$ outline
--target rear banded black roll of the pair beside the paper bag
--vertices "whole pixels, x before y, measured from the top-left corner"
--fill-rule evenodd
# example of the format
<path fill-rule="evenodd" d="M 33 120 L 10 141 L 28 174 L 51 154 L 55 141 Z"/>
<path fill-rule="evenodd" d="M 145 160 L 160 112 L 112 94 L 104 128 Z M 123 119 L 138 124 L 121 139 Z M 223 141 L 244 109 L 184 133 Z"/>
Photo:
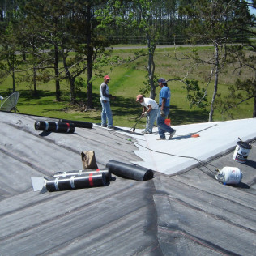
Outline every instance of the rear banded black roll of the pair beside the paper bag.
<path fill-rule="evenodd" d="M 105 173 L 106 181 L 111 181 L 111 173 L 108 168 L 105 169 L 86 169 L 86 170 L 75 170 L 67 172 L 57 172 L 53 174 L 53 177 L 70 177 L 70 176 L 83 176 L 89 173 Z"/>

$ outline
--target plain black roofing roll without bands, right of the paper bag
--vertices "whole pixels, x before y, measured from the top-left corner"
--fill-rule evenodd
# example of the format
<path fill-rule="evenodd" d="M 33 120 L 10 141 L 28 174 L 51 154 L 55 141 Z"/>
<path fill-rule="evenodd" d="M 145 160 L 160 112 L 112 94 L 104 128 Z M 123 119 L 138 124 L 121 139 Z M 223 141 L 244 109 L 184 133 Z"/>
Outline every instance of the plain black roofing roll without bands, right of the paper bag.
<path fill-rule="evenodd" d="M 117 162 L 115 160 L 109 160 L 106 164 L 111 173 L 120 177 L 130 178 L 136 181 L 147 181 L 154 177 L 154 173 L 151 169 L 146 169 L 134 164 L 126 164 Z"/>

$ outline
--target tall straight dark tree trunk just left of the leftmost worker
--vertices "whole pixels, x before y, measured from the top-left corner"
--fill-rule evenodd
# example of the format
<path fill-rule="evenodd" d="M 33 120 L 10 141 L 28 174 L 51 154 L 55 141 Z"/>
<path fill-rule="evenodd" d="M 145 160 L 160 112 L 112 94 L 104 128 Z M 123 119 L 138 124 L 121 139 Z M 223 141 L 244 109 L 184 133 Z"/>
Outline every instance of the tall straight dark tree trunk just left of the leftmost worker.
<path fill-rule="evenodd" d="M 91 32 L 91 9 L 87 5 L 87 109 L 93 109 L 92 105 L 92 32 Z"/>

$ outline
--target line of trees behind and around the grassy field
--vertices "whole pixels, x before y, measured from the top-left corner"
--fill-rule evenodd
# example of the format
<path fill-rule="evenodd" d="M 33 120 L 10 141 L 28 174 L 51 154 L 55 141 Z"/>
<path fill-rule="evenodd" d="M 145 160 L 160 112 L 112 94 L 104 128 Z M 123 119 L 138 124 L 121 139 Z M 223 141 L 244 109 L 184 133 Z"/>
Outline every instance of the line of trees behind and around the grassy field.
<path fill-rule="evenodd" d="M 196 52 L 186 58 L 191 58 L 194 66 L 211 66 L 205 87 L 178 78 L 186 86 L 191 105 L 206 104 L 207 88 L 213 81 L 209 121 L 218 107 L 221 111 L 232 109 L 235 97 L 241 102 L 253 97 L 255 117 L 256 76 L 237 80 L 230 88 L 232 97 L 216 100 L 224 66 L 237 63 L 238 69 L 247 67 L 256 74 L 255 44 L 250 40 L 255 36 L 255 16 L 249 10 L 255 6 L 255 0 L 0 0 L 0 79 L 11 75 L 15 91 L 17 74 L 23 72 L 23 80 L 32 84 L 35 95 L 37 83 L 54 80 L 57 101 L 60 83 L 67 80 L 71 103 L 75 103 L 76 87 L 83 85 L 87 87 L 87 109 L 92 109 L 93 77 L 102 75 L 104 66 L 147 56 L 145 92 L 154 99 L 156 45 L 166 39 L 174 45 L 203 43 L 214 46 L 210 59 L 200 59 Z M 134 43 L 132 40 L 146 44 L 146 53 L 138 51 L 128 59 L 109 57 L 109 46 Z M 233 43 L 239 44 L 230 46 Z"/>

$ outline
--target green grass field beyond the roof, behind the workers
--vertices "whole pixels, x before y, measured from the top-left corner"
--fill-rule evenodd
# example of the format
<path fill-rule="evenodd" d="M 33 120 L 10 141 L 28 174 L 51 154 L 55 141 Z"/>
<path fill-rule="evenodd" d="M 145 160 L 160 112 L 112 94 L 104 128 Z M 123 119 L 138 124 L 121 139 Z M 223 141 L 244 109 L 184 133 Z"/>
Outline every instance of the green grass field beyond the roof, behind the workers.
<path fill-rule="evenodd" d="M 146 50 L 146 49 L 145 49 Z M 136 49 L 118 49 L 114 50 L 113 54 L 122 57 L 132 56 Z M 191 49 L 188 47 L 181 47 L 177 49 L 179 56 L 185 56 L 190 53 Z M 201 47 L 198 49 L 203 56 L 211 55 L 213 49 L 211 47 Z M 157 77 L 164 77 L 165 79 L 183 78 L 190 69 L 190 61 L 179 62 L 170 58 L 173 56 L 174 49 L 156 49 L 155 63 Z M 147 75 L 145 70 L 147 66 L 147 57 L 139 58 L 129 65 L 117 66 L 113 70 L 105 69 L 105 73 L 112 79 L 109 82 L 109 91 L 116 96 L 116 100 L 111 101 L 111 108 L 113 111 L 113 124 L 115 126 L 134 126 L 135 118 L 139 117 L 142 107 L 135 101 L 135 97 L 140 94 L 139 89 L 144 87 L 143 80 Z M 200 85 L 203 86 L 203 81 L 207 76 L 210 67 L 198 66 L 194 69 L 188 78 L 198 79 Z M 246 74 L 253 75 L 253 74 Z M 85 76 L 83 75 L 83 78 Z M 232 70 L 226 70 L 220 75 L 219 92 L 222 95 L 228 93 L 228 86 L 233 84 L 237 79 Z M 92 83 L 93 105 L 95 109 L 92 111 L 83 111 L 83 105 L 86 105 L 86 88 L 81 88 L 77 92 L 77 100 L 80 102 L 81 108 L 75 108 L 69 103 L 69 85 L 66 81 L 62 81 L 62 100 L 57 102 L 55 100 L 54 81 L 49 83 L 39 84 L 38 97 L 32 96 L 32 88 L 28 83 L 19 83 L 16 85 L 16 91 L 20 92 L 17 109 L 20 113 L 28 113 L 45 117 L 65 118 L 87 122 L 100 122 L 100 92 L 99 87 L 102 83 L 101 78 L 97 78 Z M 195 122 L 207 122 L 210 107 L 206 109 L 192 108 L 190 109 L 189 102 L 186 100 L 186 89 L 181 82 L 169 82 L 169 88 L 172 92 L 171 111 L 169 117 L 173 125 L 189 124 Z M 12 82 L 11 77 L 8 77 L 2 84 L 0 84 L 0 95 L 8 96 L 11 94 Z M 209 87 L 208 102 L 211 102 L 212 83 Z M 160 88 L 156 89 L 156 101 L 158 102 Z M 149 95 L 146 95 L 149 96 Z M 233 118 L 250 118 L 253 112 L 253 99 L 240 106 L 239 109 L 233 109 Z M 229 120 L 230 117 L 221 116 L 218 111 L 215 111 L 214 121 Z M 142 128 L 145 124 L 145 118 L 136 127 Z"/>

